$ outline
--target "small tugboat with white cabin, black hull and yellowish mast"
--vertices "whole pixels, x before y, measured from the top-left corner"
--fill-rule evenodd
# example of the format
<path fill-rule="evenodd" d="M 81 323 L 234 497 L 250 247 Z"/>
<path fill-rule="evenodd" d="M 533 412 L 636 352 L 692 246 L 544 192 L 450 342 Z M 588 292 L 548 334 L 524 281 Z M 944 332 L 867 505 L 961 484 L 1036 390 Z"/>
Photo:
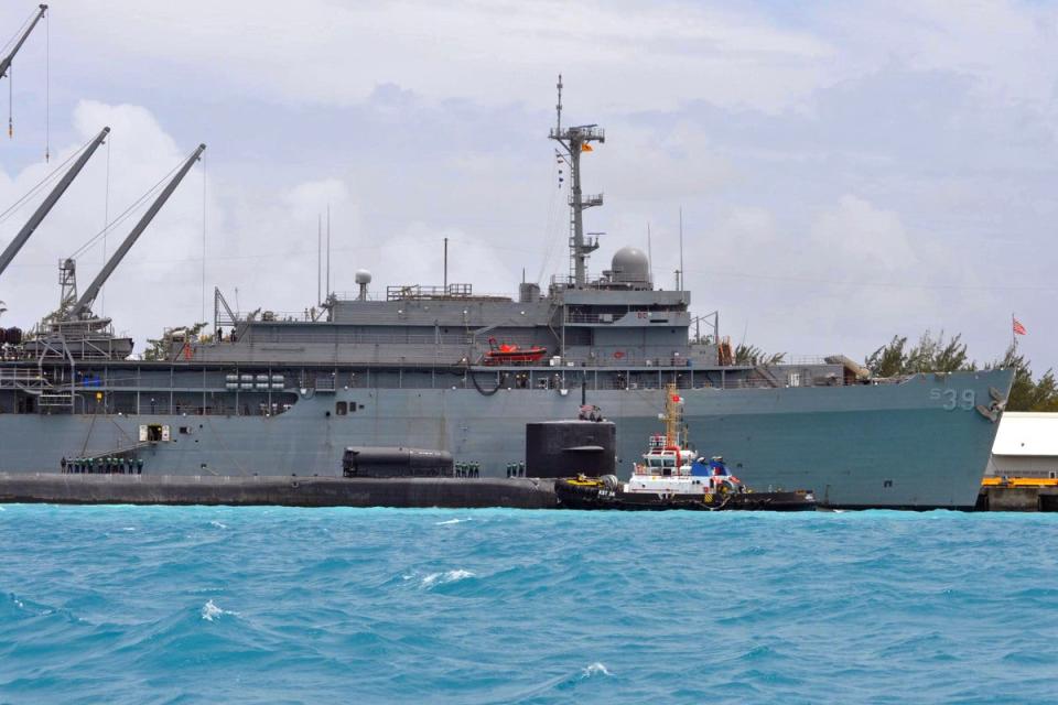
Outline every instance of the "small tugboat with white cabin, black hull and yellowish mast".
<path fill-rule="evenodd" d="M 614 475 L 558 480 L 559 505 L 569 509 L 660 510 L 726 509 L 758 511 L 810 511 L 816 509 L 811 490 L 756 492 L 732 475 L 721 456 L 706 460 L 690 447 L 683 425 L 683 400 L 676 384 L 666 388 L 665 433 L 650 436 L 643 463 L 622 482 Z"/>

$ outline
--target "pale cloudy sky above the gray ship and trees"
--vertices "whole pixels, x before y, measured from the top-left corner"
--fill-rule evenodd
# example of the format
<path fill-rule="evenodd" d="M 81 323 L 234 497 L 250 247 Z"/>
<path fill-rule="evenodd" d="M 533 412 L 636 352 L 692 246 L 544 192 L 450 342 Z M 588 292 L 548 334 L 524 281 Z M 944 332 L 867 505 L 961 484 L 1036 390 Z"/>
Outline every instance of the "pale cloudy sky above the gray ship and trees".
<path fill-rule="evenodd" d="M 0 42 L 35 4 L 0 3 Z M 0 279 L 0 322 L 52 311 L 57 261 L 199 142 L 96 304 L 140 348 L 212 319 L 214 286 L 312 306 L 328 206 L 333 291 L 357 269 L 378 293 L 439 284 L 444 238 L 450 282 L 547 284 L 569 271 L 561 73 L 563 121 L 606 129 L 582 162 L 605 194 L 590 271 L 649 226 L 672 288 L 682 209 L 692 312 L 735 343 L 862 360 L 930 330 L 986 364 L 1016 315 L 1038 375 L 1058 368 L 1056 40 L 1058 2 L 55 0 L 15 58 L 0 209 L 112 133 Z M 131 223 L 78 257 L 83 286 Z"/>

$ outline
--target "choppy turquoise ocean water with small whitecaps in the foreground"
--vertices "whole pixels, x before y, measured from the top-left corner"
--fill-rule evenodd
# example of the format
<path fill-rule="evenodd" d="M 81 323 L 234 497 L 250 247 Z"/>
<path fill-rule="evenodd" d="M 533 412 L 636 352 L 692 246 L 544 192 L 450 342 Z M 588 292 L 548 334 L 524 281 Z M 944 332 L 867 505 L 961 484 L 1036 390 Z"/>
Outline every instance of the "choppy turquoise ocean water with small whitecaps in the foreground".
<path fill-rule="evenodd" d="M 0 507 L 0 703 L 1058 699 L 1058 516 Z"/>

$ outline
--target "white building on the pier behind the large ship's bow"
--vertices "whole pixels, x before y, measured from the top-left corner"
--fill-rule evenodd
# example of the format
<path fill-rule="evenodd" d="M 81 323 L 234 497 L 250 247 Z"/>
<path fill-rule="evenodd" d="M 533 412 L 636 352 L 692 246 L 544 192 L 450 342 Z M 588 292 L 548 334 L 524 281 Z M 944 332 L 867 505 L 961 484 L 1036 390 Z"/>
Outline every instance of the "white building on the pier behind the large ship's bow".
<path fill-rule="evenodd" d="M 1058 478 L 1058 413 L 1005 412 L 985 475 Z"/>

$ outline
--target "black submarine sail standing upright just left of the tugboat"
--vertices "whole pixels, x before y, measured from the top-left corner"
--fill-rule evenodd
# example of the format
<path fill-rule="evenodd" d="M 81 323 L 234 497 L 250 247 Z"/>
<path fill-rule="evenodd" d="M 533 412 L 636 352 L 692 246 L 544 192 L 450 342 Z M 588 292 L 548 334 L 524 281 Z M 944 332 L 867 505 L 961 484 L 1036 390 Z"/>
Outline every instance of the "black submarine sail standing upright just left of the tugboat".
<path fill-rule="evenodd" d="M 600 477 L 617 468 L 617 427 L 612 421 L 543 421 L 526 424 L 526 475 Z"/>

